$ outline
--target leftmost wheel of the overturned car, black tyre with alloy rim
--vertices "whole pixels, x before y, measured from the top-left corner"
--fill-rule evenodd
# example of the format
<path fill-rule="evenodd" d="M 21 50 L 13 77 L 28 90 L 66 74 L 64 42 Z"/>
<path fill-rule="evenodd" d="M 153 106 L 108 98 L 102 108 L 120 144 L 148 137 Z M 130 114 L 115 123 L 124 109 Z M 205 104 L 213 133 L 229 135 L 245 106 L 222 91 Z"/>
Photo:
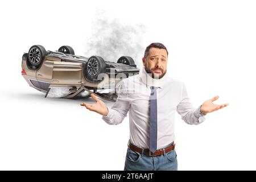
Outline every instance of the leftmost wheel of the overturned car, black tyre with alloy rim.
<path fill-rule="evenodd" d="M 28 51 L 28 61 L 34 66 L 41 64 L 46 56 L 46 49 L 43 46 L 32 46 Z"/>

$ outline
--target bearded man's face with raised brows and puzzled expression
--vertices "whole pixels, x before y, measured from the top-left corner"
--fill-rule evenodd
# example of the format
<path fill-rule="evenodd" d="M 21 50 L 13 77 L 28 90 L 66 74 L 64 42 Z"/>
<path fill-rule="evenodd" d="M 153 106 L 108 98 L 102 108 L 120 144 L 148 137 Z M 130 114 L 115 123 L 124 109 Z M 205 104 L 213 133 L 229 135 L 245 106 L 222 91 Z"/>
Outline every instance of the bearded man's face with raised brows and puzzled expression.
<path fill-rule="evenodd" d="M 147 73 L 152 73 L 153 78 L 162 78 L 167 72 L 166 49 L 150 48 L 147 57 L 142 59 Z"/>

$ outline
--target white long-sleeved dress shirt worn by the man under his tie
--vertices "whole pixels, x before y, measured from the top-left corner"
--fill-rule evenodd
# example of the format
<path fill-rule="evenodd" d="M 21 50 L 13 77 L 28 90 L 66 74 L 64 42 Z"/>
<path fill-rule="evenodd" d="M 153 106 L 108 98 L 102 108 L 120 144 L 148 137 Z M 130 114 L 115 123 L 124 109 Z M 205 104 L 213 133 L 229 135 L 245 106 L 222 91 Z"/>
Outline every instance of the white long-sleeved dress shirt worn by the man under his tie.
<path fill-rule="evenodd" d="M 195 109 L 189 102 L 183 82 L 163 76 L 154 79 L 144 67 L 139 75 L 123 79 L 117 85 L 118 98 L 108 115 L 102 119 L 110 125 L 118 125 L 129 111 L 130 142 L 141 148 L 149 146 L 150 131 L 150 86 L 158 86 L 158 140 L 157 149 L 174 142 L 175 111 L 189 125 L 197 125 L 205 120 L 200 106 Z"/>

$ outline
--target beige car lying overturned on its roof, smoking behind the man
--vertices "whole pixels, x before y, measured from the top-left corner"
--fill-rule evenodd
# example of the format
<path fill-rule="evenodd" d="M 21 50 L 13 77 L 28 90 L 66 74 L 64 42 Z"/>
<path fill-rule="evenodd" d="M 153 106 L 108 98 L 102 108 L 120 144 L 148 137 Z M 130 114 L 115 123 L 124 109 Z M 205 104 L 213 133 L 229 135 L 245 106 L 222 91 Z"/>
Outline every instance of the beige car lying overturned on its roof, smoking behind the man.
<path fill-rule="evenodd" d="M 58 51 L 46 51 L 43 46 L 32 46 L 22 56 L 22 76 L 32 88 L 45 93 L 63 89 L 64 98 L 81 92 L 94 93 L 105 100 L 115 101 L 115 85 L 123 78 L 139 73 L 129 56 L 121 56 L 117 63 L 101 56 L 77 56 L 70 46 Z"/>

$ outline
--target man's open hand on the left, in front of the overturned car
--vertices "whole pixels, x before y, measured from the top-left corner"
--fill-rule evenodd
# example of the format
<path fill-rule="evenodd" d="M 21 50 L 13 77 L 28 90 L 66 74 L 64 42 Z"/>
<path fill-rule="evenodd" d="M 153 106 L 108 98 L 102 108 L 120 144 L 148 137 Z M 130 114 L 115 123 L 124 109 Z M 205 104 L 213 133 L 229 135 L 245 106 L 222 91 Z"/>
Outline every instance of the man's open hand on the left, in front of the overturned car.
<path fill-rule="evenodd" d="M 99 100 L 94 94 L 90 94 L 90 97 L 93 98 L 94 101 L 96 101 L 96 104 L 87 104 L 87 103 L 82 103 L 80 106 L 85 106 L 86 109 L 89 109 L 91 111 L 95 111 L 98 114 L 101 115 L 108 115 L 109 110 L 108 107 L 104 102 Z"/>

